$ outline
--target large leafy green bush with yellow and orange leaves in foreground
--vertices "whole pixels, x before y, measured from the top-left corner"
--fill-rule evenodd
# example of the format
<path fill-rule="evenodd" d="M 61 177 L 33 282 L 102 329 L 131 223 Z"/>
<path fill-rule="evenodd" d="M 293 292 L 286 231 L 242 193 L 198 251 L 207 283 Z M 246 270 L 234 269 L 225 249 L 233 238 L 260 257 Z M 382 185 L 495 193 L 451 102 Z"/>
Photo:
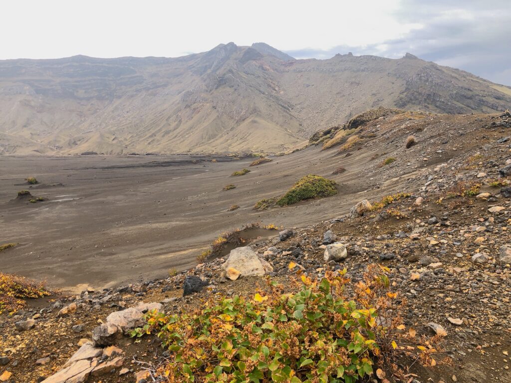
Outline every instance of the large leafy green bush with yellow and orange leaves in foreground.
<path fill-rule="evenodd" d="M 156 375 L 172 382 L 365 381 L 384 374 L 377 364 L 398 347 L 389 334 L 404 328 L 387 272 L 370 265 L 353 293 L 344 269 L 321 281 L 302 275 L 288 294 L 269 282 L 253 298 L 214 296 L 180 315 L 153 310 L 131 336 L 157 334 L 168 358 Z"/>

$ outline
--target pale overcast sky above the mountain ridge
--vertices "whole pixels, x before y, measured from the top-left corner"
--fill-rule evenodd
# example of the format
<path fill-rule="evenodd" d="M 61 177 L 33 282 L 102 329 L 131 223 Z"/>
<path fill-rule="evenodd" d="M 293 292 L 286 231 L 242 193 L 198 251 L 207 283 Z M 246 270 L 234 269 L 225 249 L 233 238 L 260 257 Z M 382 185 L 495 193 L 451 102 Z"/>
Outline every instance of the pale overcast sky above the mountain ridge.
<path fill-rule="evenodd" d="M 0 59 L 177 57 L 266 42 L 296 58 L 420 58 L 511 85 L 511 0 L 12 0 Z"/>

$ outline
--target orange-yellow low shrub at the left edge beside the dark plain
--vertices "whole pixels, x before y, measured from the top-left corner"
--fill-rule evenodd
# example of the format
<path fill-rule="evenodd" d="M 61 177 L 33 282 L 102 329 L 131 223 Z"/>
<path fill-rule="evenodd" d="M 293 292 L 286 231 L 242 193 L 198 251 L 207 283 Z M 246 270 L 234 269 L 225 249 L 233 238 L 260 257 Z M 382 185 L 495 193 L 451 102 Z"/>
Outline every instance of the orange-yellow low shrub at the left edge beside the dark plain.
<path fill-rule="evenodd" d="M 41 298 L 50 295 L 44 283 L 13 274 L 0 273 L 0 314 L 15 313 L 25 306 L 25 299 Z"/>

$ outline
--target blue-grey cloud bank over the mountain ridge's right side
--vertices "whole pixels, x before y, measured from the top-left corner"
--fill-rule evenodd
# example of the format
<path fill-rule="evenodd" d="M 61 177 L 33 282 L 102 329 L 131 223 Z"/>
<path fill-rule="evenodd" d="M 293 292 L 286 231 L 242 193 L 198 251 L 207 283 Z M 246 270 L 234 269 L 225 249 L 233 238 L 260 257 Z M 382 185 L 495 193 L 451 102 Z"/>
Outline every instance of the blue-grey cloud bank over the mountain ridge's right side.
<path fill-rule="evenodd" d="M 509 0 L 405 0 L 394 17 L 423 28 L 413 29 L 399 39 L 363 47 L 338 45 L 327 51 L 309 48 L 286 53 L 296 58 L 324 59 L 347 52 L 389 58 L 409 52 L 424 60 L 511 85 Z"/>

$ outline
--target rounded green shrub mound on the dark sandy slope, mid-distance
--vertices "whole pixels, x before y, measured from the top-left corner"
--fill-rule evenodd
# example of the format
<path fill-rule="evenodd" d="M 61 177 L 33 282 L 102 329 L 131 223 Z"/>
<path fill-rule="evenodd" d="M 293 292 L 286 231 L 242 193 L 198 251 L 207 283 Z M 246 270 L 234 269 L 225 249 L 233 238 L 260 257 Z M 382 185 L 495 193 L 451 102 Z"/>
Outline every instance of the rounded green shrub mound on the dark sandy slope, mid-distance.
<path fill-rule="evenodd" d="M 279 206 L 286 206 L 313 198 L 333 196 L 337 194 L 335 185 L 336 182 L 333 180 L 309 174 L 296 182 L 276 203 Z"/>

